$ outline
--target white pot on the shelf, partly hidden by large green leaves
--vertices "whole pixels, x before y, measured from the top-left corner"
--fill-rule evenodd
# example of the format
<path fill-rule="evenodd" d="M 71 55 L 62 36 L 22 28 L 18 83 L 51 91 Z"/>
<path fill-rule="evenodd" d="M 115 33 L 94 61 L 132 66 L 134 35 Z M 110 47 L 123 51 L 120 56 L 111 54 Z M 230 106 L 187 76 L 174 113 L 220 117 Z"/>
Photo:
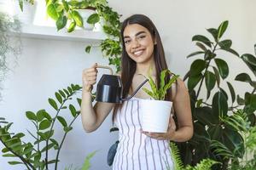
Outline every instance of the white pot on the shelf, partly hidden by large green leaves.
<path fill-rule="evenodd" d="M 78 11 L 81 17 L 83 18 L 83 23 L 84 23 L 83 29 L 87 31 L 92 31 L 94 28 L 94 24 L 88 24 L 87 20 L 90 17 L 90 15 L 95 14 L 96 11 L 89 8 L 76 9 L 76 11 Z M 79 28 L 79 26 L 76 26 L 76 28 Z"/>

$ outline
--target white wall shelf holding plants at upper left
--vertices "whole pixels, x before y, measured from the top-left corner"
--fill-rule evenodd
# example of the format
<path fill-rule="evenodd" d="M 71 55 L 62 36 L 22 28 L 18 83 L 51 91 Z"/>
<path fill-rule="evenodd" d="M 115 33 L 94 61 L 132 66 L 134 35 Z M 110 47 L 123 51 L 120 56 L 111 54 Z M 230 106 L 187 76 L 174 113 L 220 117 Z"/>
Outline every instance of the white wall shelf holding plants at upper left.
<path fill-rule="evenodd" d="M 57 31 L 57 29 L 52 26 L 35 26 L 23 24 L 21 26 L 21 37 L 79 42 L 100 42 L 106 38 L 106 35 L 100 31 L 86 31 L 79 29 L 69 33 L 65 28 Z"/>

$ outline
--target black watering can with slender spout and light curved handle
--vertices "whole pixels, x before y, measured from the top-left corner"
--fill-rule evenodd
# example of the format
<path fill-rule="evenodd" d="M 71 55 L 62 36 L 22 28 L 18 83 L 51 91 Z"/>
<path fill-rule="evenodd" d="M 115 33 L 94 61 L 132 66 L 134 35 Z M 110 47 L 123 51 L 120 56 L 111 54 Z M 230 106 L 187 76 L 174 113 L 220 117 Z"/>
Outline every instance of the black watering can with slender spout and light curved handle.
<path fill-rule="evenodd" d="M 131 94 L 131 96 L 123 99 L 123 85 L 121 78 L 119 76 L 113 75 L 113 70 L 111 67 L 96 65 L 96 68 L 108 69 L 111 71 L 110 75 L 104 74 L 97 84 L 96 88 L 96 101 L 107 102 L 107 103 L 122 103 L 122 101 L 131 99 L 137 91 L 143 87 L 143 85 L 148 82 L 146 79 L 139 87 Z"/>

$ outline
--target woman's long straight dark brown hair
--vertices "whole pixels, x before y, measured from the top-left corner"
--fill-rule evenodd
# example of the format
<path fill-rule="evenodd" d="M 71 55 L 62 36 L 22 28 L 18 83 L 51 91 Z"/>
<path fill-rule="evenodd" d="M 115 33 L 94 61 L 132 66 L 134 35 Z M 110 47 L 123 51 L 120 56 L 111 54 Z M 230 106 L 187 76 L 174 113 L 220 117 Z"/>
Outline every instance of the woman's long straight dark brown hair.
<path fill-rule="evenodd" d="M 131 24 L 138 24 L 148 29 L 151 34 L 151 37 L 155 40 L 154 44 L 154 63 L 155 63 L 155 71 L 156 71 L 156 81 L 158 87 L 160 86 L 160 71 L 168 69 L 166 64 L 166 57 L 164 48 L 160 39 L 159 32 L 157 31 L 156 27 L 152 20 L 150 20 L 147 16 L 143 14 L 133 14 L 124 22 L 121 26 L 121 39 L 122 39 L 122 56 L 121 56 L 121 81 L 123 83 L 123 98 L 127 97 L 129 94 L 129 90 L 131 88 L 132 78 L 136 71 L 136 62 L 132 60 L 125 50 L 125 42 L 124 42 L 124 31 L 125 27 Z M 169 80 L 170 77 L 166 78 L 166 81 Z M 166 94 L 165 100 L 171 99 L 171 89 Z M 115 105 L 113 108 L 113 117 L 112 120 L 117 114 L 120 105 Z"/>

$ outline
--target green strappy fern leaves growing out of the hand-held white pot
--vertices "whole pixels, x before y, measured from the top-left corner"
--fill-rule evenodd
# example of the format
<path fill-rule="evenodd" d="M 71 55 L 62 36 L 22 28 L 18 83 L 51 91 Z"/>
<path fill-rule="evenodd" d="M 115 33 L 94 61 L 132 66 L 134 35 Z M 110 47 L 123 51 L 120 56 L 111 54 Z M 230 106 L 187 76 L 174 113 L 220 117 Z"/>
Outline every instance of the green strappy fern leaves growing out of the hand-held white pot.
<path fill-rule="evenodd" d="M 171 78 L 166 82 L 166 78 Z M 169 70 L 164 70 L 160 72 L 160 86 L 154 82 L 152 77 L 148 77 L 148 82 L 151 90 L 148 88 L 143 88 L 143 91 L 146 92 L 153 99 L 164 100 L 166 97 L 167 90 L 172 87 L 172 83 L 177 81 L 177 75 L 172 75 L 172 72 Z"/>

